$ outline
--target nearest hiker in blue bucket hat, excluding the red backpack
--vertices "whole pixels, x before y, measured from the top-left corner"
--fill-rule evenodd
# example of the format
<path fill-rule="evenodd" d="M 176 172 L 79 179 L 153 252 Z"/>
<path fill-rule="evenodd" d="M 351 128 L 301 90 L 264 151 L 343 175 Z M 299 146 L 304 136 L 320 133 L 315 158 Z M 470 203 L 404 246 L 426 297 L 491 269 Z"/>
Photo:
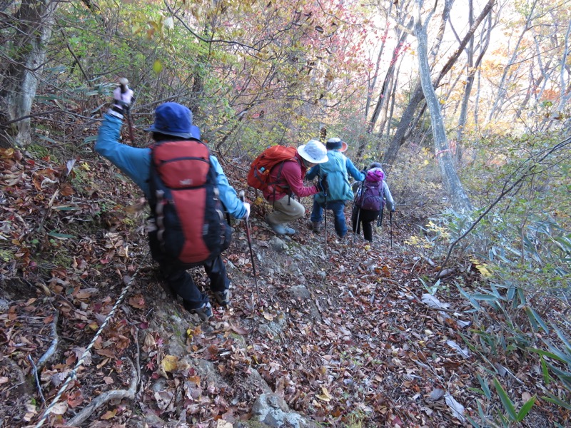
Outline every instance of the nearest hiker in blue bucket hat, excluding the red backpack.
<path fill-rule="evenodd" d="M 107 158 L 117 168 L 131 178 L 143 190 L 147 200 L 150 199 L 148 180 L 151 173 L 151 149 L 136 148 L 119 143 L 123 116 L 133 99 L 133 91 L 121 87 L 113 92 L 113 107 L 103 116 L 103 123 L 99 127 L 95 151 Z M 192 112 L 178 103 L 163 103 L 156 108 L 155 121 L 145 131 L 153 133 L 154 141 L 186 141 L 189 138 L 200 140 L 200 130 L 193 126 Z M 216 184 L 220 192 L 219 198 L 235 218 L 248 218 L 250 204 L 243 203 L 228 183 L 216 156 L 210 156 L 211 165 L 216 170 Z M 202 320 L 212 316 L 211 304 L 208 296 L 203 294 L 191 275 L 188 267 L 177 263 L 177 260 L 168 258 L 161 250 L 161 246 L 150 240 L 151 254 L 161 267 L 161 273 L 171 292 L 183 299 L 183 306 L 191 313 L 196 313 Z M 206 274 L 211 280 L 210 287 L 214 297 L 221 306 L 227 306 L 230 301 L 231 281 L 226 275 L 226 267 L 221 255 L 213 260 L 203 263 Z"/>

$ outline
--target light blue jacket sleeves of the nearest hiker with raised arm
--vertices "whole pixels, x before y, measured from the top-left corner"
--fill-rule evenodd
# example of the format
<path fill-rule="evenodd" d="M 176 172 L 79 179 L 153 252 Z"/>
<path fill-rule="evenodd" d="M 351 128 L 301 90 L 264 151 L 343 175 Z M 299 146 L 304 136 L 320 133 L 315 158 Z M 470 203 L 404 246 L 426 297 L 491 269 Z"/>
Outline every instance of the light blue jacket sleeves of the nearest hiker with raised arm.
<path fill-rule="evenodd" d="M 118 142 L 121 126 L 121 119 L 106 114 L 103 116 L 103 123 L 99 127 L 95 151 L 111 163 L 116 165 L 122 173 L 133 180 L 138 187 L 143 190 L 145 197 L 149 198 L 148 179 L 151 174 L 151 149 L 127 146 Z M 198 129 L 198 128 L 197 128 Z M 198 137 L 200 135 L 198 134 Z M 228 210 L 228 213 L 235 218 L 244 218 L 246 208 L 234 190 L 228 183 L 228 178 L 224 174 L 216 156 L 211 155 L 210 161 L 216 170 L 216 183 L 220 191 L 220 200 Z"/>

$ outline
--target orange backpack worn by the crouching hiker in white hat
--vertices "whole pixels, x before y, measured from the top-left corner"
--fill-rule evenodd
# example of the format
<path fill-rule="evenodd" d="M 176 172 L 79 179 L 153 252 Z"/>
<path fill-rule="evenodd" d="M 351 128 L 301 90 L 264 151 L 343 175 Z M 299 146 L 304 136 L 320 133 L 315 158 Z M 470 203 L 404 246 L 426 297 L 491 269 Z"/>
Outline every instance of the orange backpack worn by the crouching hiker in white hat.
<path fill-rule="evenodd" d="M 295 158 L 296 151 L 295 147 L 272 146 L 266 148 L 250 165 L 248 185 L 259 190 L 269 188 L 270 191 L 275 191 L 275 187 L 284 188 L 284 186 L 277 185 L 280 180 L 281 168 L 283 168 L 283 163 L 287 161 L 297 161 Z M 271 181 L 271 170 L 278 163 L 281 163 L 278 176 L 276 180 Z"/>

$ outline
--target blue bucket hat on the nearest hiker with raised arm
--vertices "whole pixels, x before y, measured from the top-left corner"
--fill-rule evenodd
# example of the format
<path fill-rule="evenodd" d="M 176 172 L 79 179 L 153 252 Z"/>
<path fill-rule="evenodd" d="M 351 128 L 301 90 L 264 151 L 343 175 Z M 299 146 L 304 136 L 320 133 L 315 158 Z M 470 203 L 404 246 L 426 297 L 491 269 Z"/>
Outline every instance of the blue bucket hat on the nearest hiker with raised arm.
<path fill-rule="evenodd" d="M 155 110 L 155 123 L 145 131 L 200 140 L 200 131 L 192 124 L 192 111 L 179 103 L 163 103 Z"/>

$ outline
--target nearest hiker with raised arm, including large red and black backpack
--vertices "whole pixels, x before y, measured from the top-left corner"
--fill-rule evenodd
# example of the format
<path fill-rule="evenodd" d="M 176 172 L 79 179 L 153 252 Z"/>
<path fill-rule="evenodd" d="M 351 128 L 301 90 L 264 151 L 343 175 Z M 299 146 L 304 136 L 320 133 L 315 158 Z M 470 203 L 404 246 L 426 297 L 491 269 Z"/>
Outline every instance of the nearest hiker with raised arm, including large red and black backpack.
<path fill-rule="evenodd" d="M 224 220 L 223 206 L 233 217 L 248 219 L 250 204 L 238 199 L 218 159 L 202 143 L 192 112 L 181 104 L 156 108 L 154 123 L 145 129 L 152 133 L 151 147 L 119 143 L 133 100 L 133 91 L 123 83 L 113 91 L 113 106 L 103 116 L 95 151 L 143 190 L 151 206 L 151 255 L 183 307 L 206 321 L 212 316 L 211 303 L 187 270 L 203 266 L 216 301 L 228 306 L 231 281 L 221 253 L 230 245 L 231 227 Z"/>

